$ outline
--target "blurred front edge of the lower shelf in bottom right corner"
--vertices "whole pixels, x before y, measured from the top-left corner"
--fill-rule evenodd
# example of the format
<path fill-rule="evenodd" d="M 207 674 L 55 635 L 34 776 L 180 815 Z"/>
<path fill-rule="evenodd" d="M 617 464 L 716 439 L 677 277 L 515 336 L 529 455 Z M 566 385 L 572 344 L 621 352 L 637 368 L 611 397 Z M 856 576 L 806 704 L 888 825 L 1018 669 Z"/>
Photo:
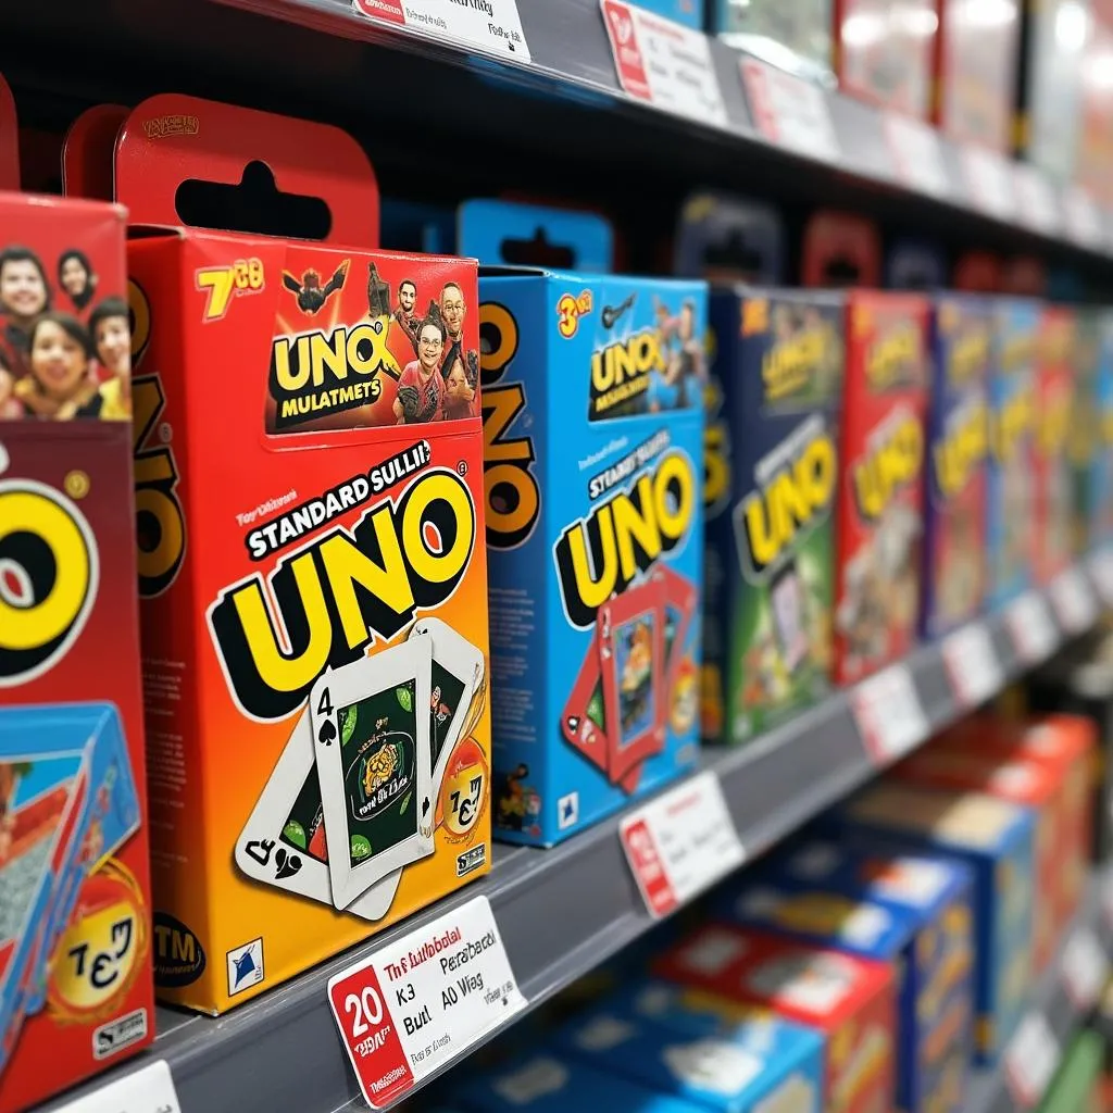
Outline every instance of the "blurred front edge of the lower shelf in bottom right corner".
<path fill-rule="evenodd" d="M 1090 976 L 1094 978 L 1093 993 L 1101 992 L 1104 974 L 1109 972 L 1110 957 L 1113 956 L 1113 917 L 1110 915 L 1110 886 L 1113 875 L 1106 869 L 1094 877 L 1090 885 L 1087 899 L 1075 924 L 1060 943 L 1058 951 L 1036 984 L 1028 1008 L 1027 1023 L 1033 1030 L 1041 1028 L 1040 1018 L 1044 1025 L 1043 1032 L 1050 1034 L 1054 1042 L 1048 1044 L 1052 1058 L 1048 1062 L 1057 1065 L 1058 1057 L 1066 1051 L 1071 1038 L 1087 1018 L 1094 1002 L 1083 997 L 1080 999 L 1071 989 L 1071 963 L 1066 959 L 1067 948 L 1080 944 L 1092 944 L 1096 940 L 1104 956 L 1104 965 L 1100 968 L 1091 964 Z M 1083 939 L 1083 937 L 1089 937 Z M 1094 951 L 1096 956 L 1097 951 Z M 1016 1038 L 1014 1037 L 1014 1042 Z M 1017 1113 L 1032 1107 L 1026 1101 L 1022 1089 L 1011 1081 L 1009 1063 L 1012 1056 L 1026 1053 L 1028 1060 L 1035 1060 L 1042 1051 L 1038 1046 L 1011 1046 L 1002 1061 L 992 1070 L 978 1072 L 971 1086 L 966 1113 Z"/>

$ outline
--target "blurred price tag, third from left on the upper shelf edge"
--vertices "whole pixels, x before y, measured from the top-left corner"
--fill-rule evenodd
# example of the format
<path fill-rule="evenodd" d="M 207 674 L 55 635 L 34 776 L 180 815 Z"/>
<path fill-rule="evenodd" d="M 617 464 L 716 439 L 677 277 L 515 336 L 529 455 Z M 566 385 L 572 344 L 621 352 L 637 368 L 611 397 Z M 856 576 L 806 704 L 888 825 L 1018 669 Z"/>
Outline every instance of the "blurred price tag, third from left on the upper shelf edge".
<path fill-rule="evenodd" d="M 742 87 L 758 130 L 770 142 L 823 162 L 841 151 L 823 89 L 757 58 L 739 62 Z"/>

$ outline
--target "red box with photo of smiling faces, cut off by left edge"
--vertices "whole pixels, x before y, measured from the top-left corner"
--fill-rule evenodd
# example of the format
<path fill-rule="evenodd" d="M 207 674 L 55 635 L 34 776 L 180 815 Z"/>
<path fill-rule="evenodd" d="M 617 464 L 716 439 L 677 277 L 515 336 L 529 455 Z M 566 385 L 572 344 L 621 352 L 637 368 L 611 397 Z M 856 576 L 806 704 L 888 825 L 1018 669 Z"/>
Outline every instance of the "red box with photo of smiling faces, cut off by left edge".
<path fill-rule="evenodd" d="M 3 194 L 0 227 L 0 1111 L 16 1113 L 144 1046 L 155 1013 L 125 213 Z"/>

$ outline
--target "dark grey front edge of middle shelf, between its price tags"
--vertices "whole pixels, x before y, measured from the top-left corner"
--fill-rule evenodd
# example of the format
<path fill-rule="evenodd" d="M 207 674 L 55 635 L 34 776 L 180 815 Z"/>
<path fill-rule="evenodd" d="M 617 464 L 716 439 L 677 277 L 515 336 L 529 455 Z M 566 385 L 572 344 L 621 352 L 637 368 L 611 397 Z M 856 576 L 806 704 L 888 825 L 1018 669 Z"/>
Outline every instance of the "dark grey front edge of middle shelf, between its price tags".
<path fill-rule="evenodd" d="M 1111 567 L 1110 558 L 1104 568 L 1100 562 L 1078 565 L 1077 575 L 1062 581 L 1061 587 L 1067 581 L 1074 585 L 1075 595 L 1082 592 L 1074 610 L 1066 609 L 1071 633 L 1096 618 L 1101 595 L 1095 584 L 1099 580 L 1109 584 Z M 1104 577 L 1099 575 L 1102 571 Z M 1063 594 L 1057 589 L 1033 592 L 1034 604 L 1018 604 L 975 624 L 988 636 L 999 666 L 995 688 L 1051 656 L 1068 636 L 1061 622 Z M 1046 637 L 1035 646 L 1038 652 L 1033 652 L 1031 641 L 1015 640 L 1015 617 L 1024 613 L 1025 605 L 1035 605 L 1047 619 Z M 1025 648 L 1024 657 L 1018 644 Z M 964 707 L 940 646 L 919 648 L 902 669 L 910 676 L 924 712 L 924 729 L 906 740 L 910 748 L 955 720 Z M 748 857 L 877 771 L 879 762 L 867 751 L 856 722 L 856 698 L 854 690 L 836 693 L 745 748 L 706 755 L 705 767 L 719 777 Z M 551 850 L 496 846 L 493 871 L 483 881 L 227 1016 L 213 1020 L 160 1009 L 154 1048 L 119 1070 L 165 1058 L 184 1113 L 244 1107 L 324 1113 L 353 1101 L 355 1107 L 363 1107 L 328 1009 L 325 986 L 329 977 L 483 894 L 491 902 L 523 994 L 531 1006 L 541 1003 L 653 926 L 623 857 L 620 818 L 612 817 Z M 93 1089 L 90 1085 L 86 1092 Z"/>

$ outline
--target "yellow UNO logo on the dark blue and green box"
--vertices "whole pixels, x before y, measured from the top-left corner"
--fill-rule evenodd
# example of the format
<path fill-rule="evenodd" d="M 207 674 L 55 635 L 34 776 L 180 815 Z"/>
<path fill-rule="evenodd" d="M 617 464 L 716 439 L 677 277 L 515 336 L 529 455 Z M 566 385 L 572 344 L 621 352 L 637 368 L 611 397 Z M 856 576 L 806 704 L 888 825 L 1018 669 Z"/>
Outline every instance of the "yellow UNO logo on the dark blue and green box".
<path fill-rule="evenodd" d="M 736 511 L 741 525 L 739 550 L 754 577 L 777 562 L 792 541 L 830 509 L 836 481 L 835 442 L 826 432 L 804 443 L 765 487 L 742 500 Z"/>

